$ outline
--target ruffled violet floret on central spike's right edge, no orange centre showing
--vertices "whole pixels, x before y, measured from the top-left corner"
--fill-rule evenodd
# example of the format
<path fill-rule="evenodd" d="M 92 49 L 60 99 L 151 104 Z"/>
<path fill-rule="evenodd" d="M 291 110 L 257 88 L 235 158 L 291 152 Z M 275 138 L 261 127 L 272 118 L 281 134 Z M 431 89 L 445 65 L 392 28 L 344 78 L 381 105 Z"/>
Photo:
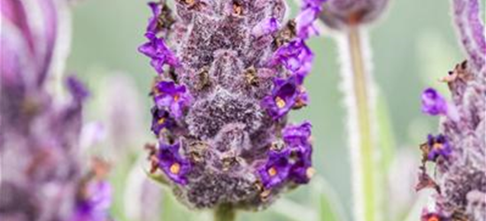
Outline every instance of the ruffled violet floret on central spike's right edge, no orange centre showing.
<path fill-rule="evenodd" d="M 312 51 L 305 45 L 305 42 L 297 39 L 284 44 L 277 50 L 270 64 L 284 65 L 287 70 L 297 74 L 298 83 L 301 84 L 305 75 L 311 71 L 313 57 Z"/>

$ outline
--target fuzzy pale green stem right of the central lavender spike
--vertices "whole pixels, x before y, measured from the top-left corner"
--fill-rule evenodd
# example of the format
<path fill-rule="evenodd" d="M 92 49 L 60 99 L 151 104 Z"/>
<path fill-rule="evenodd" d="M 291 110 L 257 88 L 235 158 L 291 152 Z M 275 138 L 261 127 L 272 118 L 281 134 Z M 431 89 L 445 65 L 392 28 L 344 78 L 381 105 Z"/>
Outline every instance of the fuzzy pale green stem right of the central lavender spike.
<path fill-rule="evenodd" d="M 351 159 L 353 170 L 353 195 L 355 216 L 357 220 L 375 221 L 376 217 L 376 193 L 375 193 L 375 174 L 374 174 L 374 141 L 372 139 L 372 125 L 370 114 L 371 95 L 368 82 L 369 76 L 366 74 L 366 62 L 363 46 L 360 38 L 360 29 L 357 26 L 351 27 L 347 33 L 347 44 L 349 50 L 349 62 L 351 63 L 351 82 L 350 91 L 351 107 L 350 111 L 352 132 L 355 133 L 356 141 L 351 141 Z M 351 133 L 352 133 L 351 132 Z"/>

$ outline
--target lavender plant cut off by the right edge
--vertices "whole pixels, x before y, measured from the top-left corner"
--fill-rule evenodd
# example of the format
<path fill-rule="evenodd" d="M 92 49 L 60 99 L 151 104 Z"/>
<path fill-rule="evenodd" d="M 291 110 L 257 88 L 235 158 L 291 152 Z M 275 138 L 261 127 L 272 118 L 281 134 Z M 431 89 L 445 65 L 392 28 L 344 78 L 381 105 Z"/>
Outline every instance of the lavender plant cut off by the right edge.
<path fill-rule="evenodd" d="M 452 15 L 467 60 L 442 80 L 451 102 L 434 88 L 422 94 L 422 111 L 440 117 L 428 134 L 417 189 L 433 188 L 433 202 L 421 217 L 430 220 L 486 220 L 486 40 L 476 0 L 453 0 Z M 434 164 L 429 175 L 426 164 Z"/>

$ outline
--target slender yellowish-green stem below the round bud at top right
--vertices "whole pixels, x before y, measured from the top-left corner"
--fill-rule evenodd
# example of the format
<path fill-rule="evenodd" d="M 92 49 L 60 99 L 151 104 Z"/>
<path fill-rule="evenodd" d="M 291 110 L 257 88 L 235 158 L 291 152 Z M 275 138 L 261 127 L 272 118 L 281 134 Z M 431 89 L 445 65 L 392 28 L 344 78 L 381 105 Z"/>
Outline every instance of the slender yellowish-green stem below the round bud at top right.
<path fill-rule="evenodd" d="M 359 27 L 351 27 L 348 33 L 348 43 L 351 54 L 351 68 L 352 68 L 352 88 L 354 89 L 355 104 L 357 107 L 357 118 L 358 118 L 358 129 L 359 129 L 359 149 L 354 149 L 359 151 L 357 156 L 357 162 L 354 164 L 359 164 L 357 168 L 359 171 L 355 171 L 359 174 L 361 183 L 355 185 L 355 203 L 357 206 L 361 206 L 360 210 L 364 214 L 357 214 L 360 220 L 365 221 L 375 221 L 376 210 L 375 210 L 375 191 L 374 191 L 374 144 L 372 140 L 372 129 L 370 120 L 370 95 L 366 80 L 366 68 L 363 58 L 363 50 L 361 45 L 361 39 L 359 37 Z M 360 202 L 356 202 L 360 201 Z"/>

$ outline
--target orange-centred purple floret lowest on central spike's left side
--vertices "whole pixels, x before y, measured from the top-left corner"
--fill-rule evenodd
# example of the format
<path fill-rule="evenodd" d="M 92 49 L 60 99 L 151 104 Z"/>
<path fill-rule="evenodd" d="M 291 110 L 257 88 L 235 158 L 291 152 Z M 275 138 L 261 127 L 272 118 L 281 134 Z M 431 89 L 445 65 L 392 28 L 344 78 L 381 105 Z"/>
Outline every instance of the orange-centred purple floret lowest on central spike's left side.
<path fill-rule="evenodd" d="M 158 168 L 164 171 L 168 178 L 174 182 L 186 185 L 188 183 L 187 174 L 190 171 L 189 160 L 182 158 L 179 153 L 181 145 L 177 142 L 173 145 L 159 143 L 158 148 Z"/>

